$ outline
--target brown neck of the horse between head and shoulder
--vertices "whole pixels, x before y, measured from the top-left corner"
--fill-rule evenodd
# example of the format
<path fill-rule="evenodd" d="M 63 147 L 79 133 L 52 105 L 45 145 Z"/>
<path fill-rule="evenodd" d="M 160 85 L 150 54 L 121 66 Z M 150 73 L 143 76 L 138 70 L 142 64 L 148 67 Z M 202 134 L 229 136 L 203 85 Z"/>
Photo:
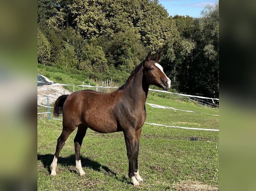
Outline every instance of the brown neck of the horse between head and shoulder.
<path fill-rule="evenodd" d="M 149 85 L 143 82 L 143 67 L 134 74 L 130 79 L 128 86 L 126 87 L 126 95 L 133 100 L 136 104 L 140 104 L 144 107 Z"/>

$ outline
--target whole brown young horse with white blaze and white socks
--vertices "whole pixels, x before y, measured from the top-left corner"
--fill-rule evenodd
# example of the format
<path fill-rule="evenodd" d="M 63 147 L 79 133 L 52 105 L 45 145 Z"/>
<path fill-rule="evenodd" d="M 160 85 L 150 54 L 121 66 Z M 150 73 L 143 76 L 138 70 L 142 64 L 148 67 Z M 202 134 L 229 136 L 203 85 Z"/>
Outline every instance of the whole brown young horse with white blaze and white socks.
<path fill-rule="evenodd" d="M 76 168 L 85 175 L 81 165 L 80 148 L 87 128 L 99 133 L 123 131 L 129 173 L 134 186 L 143 179 L 138 171 L 138 154 L 141 127 L 146 120 L 145 102 L 149 85 L 167 90 L 171 81 L 159 65 L 161 54 L 156 58 L 148 53 L 145 61 L 131 73 L 126 83 L 111 93 L 99 93 L 92 90 L 61 95 L 54 103 L 54 115 L 58 116 L 62 108 L 63 129 L 57 140 L 56 152 L 51 163 L 51 175 L 56 175 L 59 152 L 69 135 L 78 127 L 75 143 Z M 137 180 L 136 180 L 137 179 Z"/>

